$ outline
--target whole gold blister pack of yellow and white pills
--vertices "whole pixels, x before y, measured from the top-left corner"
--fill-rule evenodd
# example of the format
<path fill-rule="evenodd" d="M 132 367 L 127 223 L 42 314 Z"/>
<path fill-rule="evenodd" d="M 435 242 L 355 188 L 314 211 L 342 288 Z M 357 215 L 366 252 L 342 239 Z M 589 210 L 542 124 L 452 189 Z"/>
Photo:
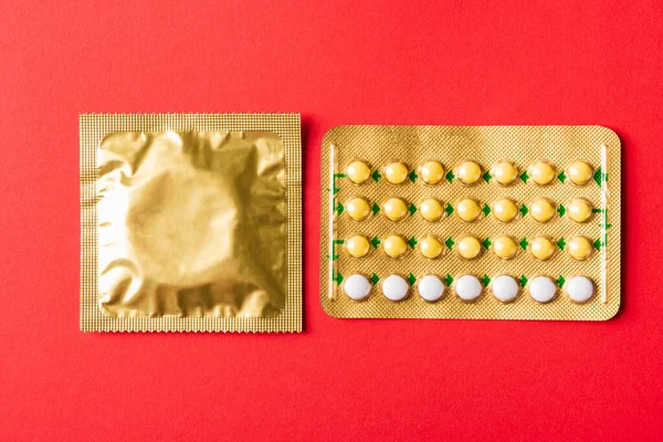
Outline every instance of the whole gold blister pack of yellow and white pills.
<path fill-rule="evenodd" d="M 619 137 L 600 126 L 338 126 L 323 140 L 323 308 L 339 318 L 606 320 Z"/>

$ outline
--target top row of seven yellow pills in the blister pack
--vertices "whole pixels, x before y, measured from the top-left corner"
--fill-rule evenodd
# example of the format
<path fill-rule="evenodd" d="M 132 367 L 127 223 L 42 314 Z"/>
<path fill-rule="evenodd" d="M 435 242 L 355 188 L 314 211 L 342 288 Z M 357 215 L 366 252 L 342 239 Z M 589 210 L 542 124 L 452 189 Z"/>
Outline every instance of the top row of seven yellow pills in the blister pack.
<path fill-rule="evenodd" d="M 402 185 L 411 177 L 410 168 L 402 161 L 390 161 L 385 165 L 381 170 L 381 176 L 385 177 L 387 182 L 391 185 Z M 439 161 L 427 161 L 421 165 L 418 169 L 419 177 L 427 185 L 439 185 L 445 178 L 444 166 Z M 524 180 L 532 179 L 532 181 L 539 186 L 547 186 L 555 180 L 557 175 L 557 168 L 549 161 L 538 160 L 535 161 L 527 168 L 528 175 L 522 177 Z M 591 181 L 593 177 L 593 167 L 586 161 L 575 161 L 570 164 L 566 169 L 566 175 L 571 183 L 577 186 L 585 186 Z M 348 179 L 356 183 L 362 185 L 371 177 L 371 168 L 367 161 L 356 159 L 350 161 L 345 173 Z M 450 176 L 451 177 L 451 176 Z M 450 178 L 448 177 L 448 179 Z M 518 168 L 512 161 L 503 160 L 493 165 L 491 168 L 490 177 L 484 173 L 484 169 L 476 161 L 463 161 L 455 169 L 455 178 L 465 186 L 474 186 L 482 179 L 494 179 L 501 186 L 511 186 L 519 177 Z M 373 178 L 376 178 L 373 176 Z M 453 179 L 453 178 L 452 178 Z"/>

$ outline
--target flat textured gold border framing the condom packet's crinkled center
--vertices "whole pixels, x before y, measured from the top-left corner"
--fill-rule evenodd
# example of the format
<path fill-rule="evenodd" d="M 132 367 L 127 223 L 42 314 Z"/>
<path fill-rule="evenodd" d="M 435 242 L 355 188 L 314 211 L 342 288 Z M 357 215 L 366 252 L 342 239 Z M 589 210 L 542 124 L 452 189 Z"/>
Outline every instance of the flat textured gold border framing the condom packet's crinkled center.
<path fill-rule="evenodd" d="M 301 332 L 302 147 L 298 114 L 82 114 L 81 329 L 83 332 Z M 285 306 L 271 317 L 106 316 L 98 295 L 98 148 L 113 133 L 270 131 L 285 149 Z"/>

